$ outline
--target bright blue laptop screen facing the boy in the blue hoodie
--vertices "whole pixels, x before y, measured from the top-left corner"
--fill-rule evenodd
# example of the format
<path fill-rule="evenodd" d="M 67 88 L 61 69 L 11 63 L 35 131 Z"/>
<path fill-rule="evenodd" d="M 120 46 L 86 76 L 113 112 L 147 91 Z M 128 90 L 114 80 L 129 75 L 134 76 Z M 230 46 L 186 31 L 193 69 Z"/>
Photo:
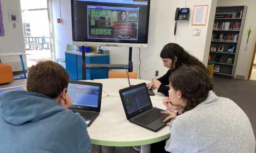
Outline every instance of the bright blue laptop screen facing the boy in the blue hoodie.
<path fill-rule="evenodd" d="M 69 83 L 68 94 L 73 105 L 98 107 L 99 86 Z"/>

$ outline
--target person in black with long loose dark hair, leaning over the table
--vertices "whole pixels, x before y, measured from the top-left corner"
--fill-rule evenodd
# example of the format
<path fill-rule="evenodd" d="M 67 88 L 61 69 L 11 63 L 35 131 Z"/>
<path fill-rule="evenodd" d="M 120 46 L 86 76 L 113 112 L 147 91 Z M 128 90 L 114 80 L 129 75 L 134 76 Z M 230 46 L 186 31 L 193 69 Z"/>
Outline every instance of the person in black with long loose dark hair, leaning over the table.
<path fill-rule="evenodd" d="M 153 80 L 147 83 L 148 89 L 157 88 L 158 92 L 169 96 L 169 76 L 171 73 L 184 66 L 198 66 L 202 70 L 207 71 L 207 68 L 194 56 L 186 52 L 180 45 L 175 43 L 169 43 L 165 45 L 160 53 L 161 60 L 163 61 L 163 66 L 167 67 L 169 70 L 165 75 L 157 80 Z"/>

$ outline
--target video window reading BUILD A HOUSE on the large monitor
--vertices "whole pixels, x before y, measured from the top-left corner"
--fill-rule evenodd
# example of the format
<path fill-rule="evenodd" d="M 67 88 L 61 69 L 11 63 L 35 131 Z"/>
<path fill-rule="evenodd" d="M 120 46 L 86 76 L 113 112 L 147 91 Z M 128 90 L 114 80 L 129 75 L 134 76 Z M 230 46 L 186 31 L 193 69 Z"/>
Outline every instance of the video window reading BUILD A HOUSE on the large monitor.
<path fill-rule="evenodd" d="M 139 10 L 139 7 L 88 5 L 88 38 L 138 40 Z"/>

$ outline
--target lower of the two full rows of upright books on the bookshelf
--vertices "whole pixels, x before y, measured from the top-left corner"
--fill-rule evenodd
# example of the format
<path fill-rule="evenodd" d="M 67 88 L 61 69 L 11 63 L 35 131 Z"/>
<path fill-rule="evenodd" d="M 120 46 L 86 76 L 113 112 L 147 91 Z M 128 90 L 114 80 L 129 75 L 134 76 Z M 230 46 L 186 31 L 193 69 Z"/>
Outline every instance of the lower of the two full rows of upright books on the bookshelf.
<path fill-rule="evenodd" d="M 237 42 L 238 33 L 213 33 L 212 40 L 214 41 L 228 41 L 228 42 Z"/>

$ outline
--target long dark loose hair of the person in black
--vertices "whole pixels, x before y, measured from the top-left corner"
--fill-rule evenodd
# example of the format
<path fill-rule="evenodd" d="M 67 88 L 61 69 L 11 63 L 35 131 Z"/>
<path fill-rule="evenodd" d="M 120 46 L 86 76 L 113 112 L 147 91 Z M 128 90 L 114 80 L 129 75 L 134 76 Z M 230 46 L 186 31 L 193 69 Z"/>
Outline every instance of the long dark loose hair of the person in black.
<path fill-rule="evenodd" d="M 177 57 L 177 62 L 174 63 L 174 57 Z M 207 71 L 206 67 L 201 63 L 196 57 L 190 55 L 188 52 L 186 52 L 180 45 L 175 43 L 169 43 L 166 44 L 161 53 L 161 58 L 170 58 L 172 60 L 172 67 L 171 70 L 175 70 L 182 66 L 182 64 L 188 65 L 188 66 L 198 66 L 201 67 L 203 70 Z"/>

